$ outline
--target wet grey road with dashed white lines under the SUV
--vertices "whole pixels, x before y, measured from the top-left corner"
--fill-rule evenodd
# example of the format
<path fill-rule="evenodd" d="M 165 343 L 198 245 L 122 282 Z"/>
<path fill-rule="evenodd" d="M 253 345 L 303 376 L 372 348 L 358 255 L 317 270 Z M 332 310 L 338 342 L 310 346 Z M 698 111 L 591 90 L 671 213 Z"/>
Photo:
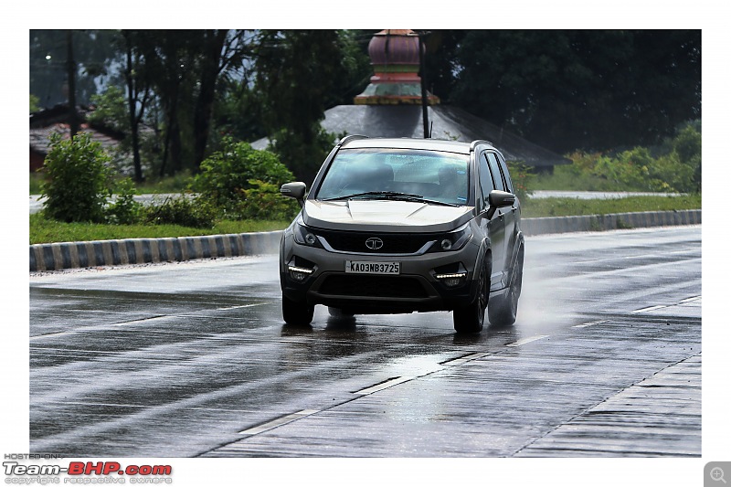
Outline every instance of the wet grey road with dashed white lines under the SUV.
<path fill-rule="evenodd" d="M 518 321 L 285 326 L 275 257 L 30 278 L 30 451 L 701 453 L 701 228 L 528 238 Z"/>

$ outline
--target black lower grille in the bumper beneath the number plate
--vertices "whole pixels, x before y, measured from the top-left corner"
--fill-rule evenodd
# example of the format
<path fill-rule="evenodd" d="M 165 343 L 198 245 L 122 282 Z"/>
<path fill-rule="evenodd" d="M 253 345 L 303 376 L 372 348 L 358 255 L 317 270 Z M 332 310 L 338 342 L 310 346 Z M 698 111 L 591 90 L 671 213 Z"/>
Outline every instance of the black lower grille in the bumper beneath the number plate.
<path fill-rule="evenodd" d="M 397 276 L 328 276 L 320 286 L 321 294 L 334 296 L 371 296 L 378 298 L 426 298 L 421 283 Z"/>

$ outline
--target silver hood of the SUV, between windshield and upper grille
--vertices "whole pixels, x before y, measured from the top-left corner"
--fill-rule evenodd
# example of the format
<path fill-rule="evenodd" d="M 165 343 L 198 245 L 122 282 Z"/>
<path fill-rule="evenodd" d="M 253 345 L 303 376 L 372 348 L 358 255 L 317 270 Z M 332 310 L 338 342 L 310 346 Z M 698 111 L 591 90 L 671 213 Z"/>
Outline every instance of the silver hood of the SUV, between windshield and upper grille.
<path fill-rule="evenodd" d="M 304 224 L 332 230 L 443 232 L 470 221 L 472 206 L 394 200 L 305 200 Z"/>

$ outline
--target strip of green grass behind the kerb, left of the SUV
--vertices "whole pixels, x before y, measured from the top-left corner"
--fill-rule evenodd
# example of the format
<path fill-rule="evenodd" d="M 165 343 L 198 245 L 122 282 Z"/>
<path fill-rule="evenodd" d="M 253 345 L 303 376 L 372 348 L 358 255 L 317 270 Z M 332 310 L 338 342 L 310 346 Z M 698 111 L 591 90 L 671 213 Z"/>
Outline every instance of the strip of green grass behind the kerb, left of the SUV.
<path fill-rule="evenodd" d="M 281 230 L 290 222 L 231 221 L 217 222 L 213 228 L 191 228 L 179 225 L 104 225 L 96 223 L 64 223 L 36 213 L 30 216 L 30 244 L 113 240 L 118 238 L 196 237 L 233 233 Z"/>

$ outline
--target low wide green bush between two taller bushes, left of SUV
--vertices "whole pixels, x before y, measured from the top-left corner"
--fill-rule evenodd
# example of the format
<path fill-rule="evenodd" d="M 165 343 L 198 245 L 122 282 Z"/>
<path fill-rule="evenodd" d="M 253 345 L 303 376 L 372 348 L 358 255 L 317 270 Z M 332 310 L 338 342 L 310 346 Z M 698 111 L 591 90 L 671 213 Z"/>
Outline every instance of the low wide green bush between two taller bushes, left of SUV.
<path fill-rule="evenodd" d="M 162 204 L 149 206 L 146 213 L 146 222 L 154 225 L 213 228 L 218 210 L 205 198 L 181 195 L 165 198 Z"/>

